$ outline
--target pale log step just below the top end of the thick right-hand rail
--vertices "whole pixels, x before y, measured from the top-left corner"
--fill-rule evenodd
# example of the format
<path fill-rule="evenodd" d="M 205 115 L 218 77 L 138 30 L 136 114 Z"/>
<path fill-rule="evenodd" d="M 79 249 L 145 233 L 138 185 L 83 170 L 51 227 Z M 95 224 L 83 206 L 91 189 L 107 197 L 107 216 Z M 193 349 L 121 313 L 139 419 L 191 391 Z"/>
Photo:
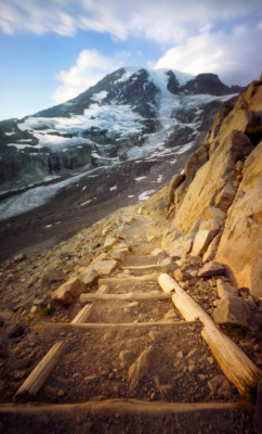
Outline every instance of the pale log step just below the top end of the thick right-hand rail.
<path fill-rule="evenodd" d="M 126 294 L 81 294 L 80 303 L 91 303 L 95 301 L 150 301 L 150 299 L 168 299 L 172 297 L 172 293 L 161 293 L 161 292 L 127 292 Z"/>

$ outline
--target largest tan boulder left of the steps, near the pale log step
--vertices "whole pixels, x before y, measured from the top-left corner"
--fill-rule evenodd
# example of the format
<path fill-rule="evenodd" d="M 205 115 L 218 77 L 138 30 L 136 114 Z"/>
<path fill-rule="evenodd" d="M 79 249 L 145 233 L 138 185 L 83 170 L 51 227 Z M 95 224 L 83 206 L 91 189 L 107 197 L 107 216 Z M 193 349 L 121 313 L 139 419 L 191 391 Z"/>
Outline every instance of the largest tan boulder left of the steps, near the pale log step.
<path fill-rule="evenodd" d="M 74 297 L 86 291 L 86 284 L 78 278 L 73 277 L 63 283 L 51 294 L 53 301 L 64 305 L 71 304 Z"/>

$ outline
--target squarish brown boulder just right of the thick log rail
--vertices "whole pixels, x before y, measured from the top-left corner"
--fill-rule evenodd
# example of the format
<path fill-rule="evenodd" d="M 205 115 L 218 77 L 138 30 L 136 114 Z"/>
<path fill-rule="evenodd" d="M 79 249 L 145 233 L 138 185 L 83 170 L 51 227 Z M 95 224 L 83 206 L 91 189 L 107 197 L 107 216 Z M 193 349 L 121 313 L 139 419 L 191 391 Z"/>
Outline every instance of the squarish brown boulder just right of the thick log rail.
<path fill-rule="evenodd" d="M 250 309 L 241 297 L 225 295 L 213 310 L 213 319 L 218 324 L 239 324 L 248 327 Z"/>

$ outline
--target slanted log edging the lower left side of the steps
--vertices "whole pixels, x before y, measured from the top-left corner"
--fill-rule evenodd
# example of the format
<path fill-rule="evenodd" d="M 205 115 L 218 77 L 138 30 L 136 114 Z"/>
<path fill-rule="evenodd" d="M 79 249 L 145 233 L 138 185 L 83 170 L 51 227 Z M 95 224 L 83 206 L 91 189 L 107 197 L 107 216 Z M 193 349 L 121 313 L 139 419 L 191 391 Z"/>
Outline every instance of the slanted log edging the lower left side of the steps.
<path fill-rule="evenodd" d="M 63 349 L 63 342 L 57 342 L 52 346 L 52 348 L 45 354 L 42 360 L 36 366 L 30 375 L 22 384 L 19 390 L 16 392 L 14 399 L 25 394 L 29 394 L 31 396 L 37 395 L 58 362 Z"/>

